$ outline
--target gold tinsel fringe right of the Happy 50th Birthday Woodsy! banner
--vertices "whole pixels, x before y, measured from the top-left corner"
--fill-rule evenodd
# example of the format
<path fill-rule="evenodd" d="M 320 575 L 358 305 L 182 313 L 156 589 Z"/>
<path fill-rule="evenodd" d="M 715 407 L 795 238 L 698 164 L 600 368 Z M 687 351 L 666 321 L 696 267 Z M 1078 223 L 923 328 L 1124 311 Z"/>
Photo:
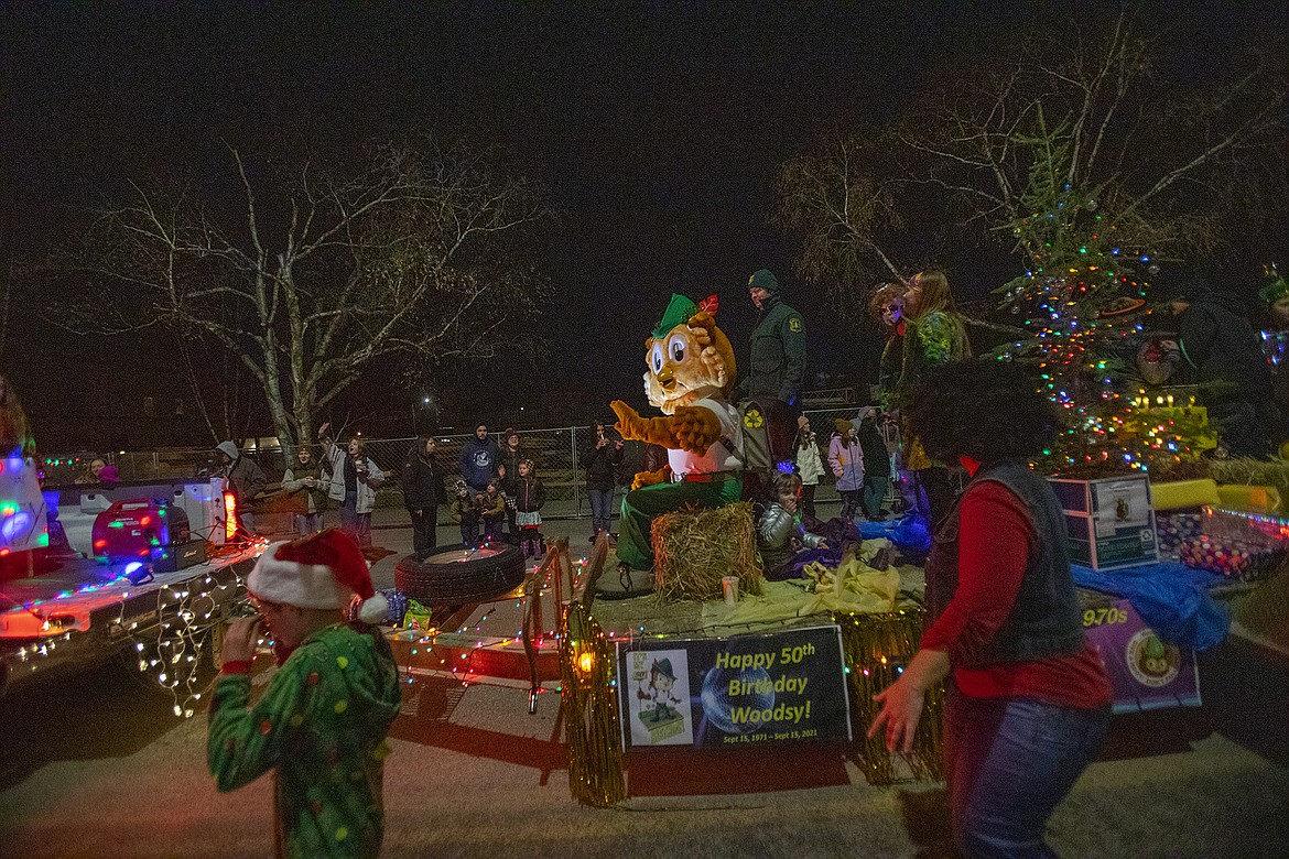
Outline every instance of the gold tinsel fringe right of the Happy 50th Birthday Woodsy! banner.
<path fill-rule="evenodd" d="M 855 725 L 855 746 L 869 784 L 893 784 L 895 766 L 886 750 L 882 733 L 871 739 L 869 725 L 878 715 L 873 695 L 889 686 L 902 668 L 913 659 L 922 643 L 923 610 L 920 608 L 896 609 L 882 614 L 856 614 L 838 612 L 833 619 L 842 627 L 842 648 L 846 653 L 847 675 L 851 689 L 851 713 Z M 913 777 L 918 780 L 944 780 L 944 711 L 942 685 L 927 693 L 922 721 L 914 735 L 913 752 L 905 755 Z"/>

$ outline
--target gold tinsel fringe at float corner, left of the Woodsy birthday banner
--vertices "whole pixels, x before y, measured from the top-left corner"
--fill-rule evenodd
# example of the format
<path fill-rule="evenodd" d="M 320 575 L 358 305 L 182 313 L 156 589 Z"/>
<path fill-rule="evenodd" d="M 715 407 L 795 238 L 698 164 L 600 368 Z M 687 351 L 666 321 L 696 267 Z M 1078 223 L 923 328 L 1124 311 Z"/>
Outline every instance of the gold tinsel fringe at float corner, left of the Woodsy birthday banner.
<path fill-rule="evenodd" d="M 589 671 L 577 666 L 589 654 Z M 563 608 L 559 623 L 559 708 L 568 742 L 568 791 L 584 805 L 607 807 L 626 798 L 621 721 L 608 636 L 581 603 Z"/>

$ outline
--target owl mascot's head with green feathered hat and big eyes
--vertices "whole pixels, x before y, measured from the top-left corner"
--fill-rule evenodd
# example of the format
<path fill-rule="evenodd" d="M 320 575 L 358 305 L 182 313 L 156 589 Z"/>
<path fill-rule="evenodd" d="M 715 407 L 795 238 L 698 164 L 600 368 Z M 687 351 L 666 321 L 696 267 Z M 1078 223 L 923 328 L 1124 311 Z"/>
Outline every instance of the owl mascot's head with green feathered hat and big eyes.
<path fill-rule="evenodd" d="M 700 399 L 726 399 L 737 371 L 730 339 L 717 327 L 713 295 L 695 304 L 673 295 L 654 336 L 644 341 L 644 394 L 664 415 Z"/>

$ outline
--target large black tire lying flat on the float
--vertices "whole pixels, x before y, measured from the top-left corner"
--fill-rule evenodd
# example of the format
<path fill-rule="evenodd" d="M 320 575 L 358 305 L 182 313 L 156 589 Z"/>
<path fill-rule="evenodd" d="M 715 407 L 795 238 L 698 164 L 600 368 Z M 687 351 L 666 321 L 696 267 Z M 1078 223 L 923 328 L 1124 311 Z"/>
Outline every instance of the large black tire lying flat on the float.
<path fill-rule="evenodd" d="M 499 543 L 473 552 L 440 546 L 424 560 L 407 555 L 394 567 L 394 587 L 425 605 L 482 603 L 509 594 L 527 572 L 518 546 Z"/>

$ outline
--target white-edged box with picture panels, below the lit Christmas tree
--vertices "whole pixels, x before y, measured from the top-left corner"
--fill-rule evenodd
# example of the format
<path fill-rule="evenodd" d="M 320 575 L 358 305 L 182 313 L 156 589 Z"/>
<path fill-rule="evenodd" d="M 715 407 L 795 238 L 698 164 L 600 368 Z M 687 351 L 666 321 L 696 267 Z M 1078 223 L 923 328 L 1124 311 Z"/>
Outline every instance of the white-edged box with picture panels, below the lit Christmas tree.
<path fill-rule="evenodd" d="M 1150 479 L 1125 474 L 1097 480 L 1048 478 L 1065 511 L 1070 560 L 1116 569 L 1159 560 Z"/>

